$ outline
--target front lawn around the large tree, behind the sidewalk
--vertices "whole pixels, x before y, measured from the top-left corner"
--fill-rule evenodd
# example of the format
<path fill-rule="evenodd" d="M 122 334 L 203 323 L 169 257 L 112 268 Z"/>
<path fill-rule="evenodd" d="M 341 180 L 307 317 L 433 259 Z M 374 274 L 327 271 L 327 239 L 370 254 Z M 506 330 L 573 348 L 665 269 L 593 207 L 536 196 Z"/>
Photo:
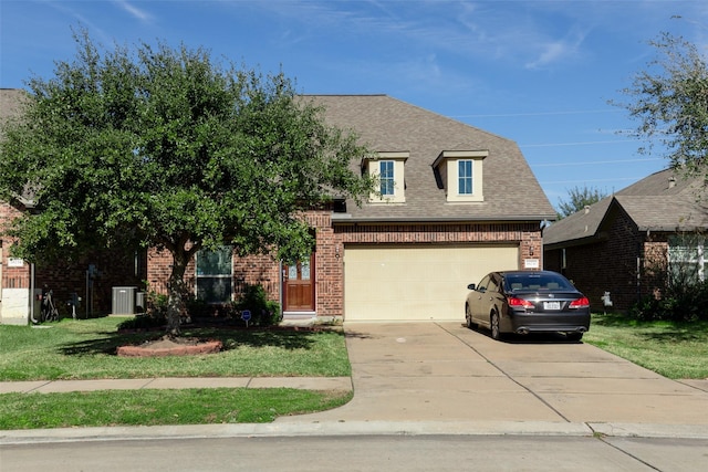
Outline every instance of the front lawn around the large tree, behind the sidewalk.
<path fill-rule="evenodd" d="M 0 325 L 0 380 L 149 377 L 340 377 L 351 366 L 341 331 L 185 329 L 186 337 L 220 339 L 218 354 L 126 358 L 118 346 L 160 332 L 117 333 L 117 317 L 45 324 Z"/>

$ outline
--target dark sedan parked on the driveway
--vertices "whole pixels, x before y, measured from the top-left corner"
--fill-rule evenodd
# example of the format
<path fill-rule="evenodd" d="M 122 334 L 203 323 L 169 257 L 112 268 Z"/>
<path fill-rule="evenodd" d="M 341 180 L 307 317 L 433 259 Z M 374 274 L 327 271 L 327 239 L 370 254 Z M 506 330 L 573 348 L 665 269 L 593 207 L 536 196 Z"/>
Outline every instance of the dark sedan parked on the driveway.
<path fill-rule="evenodd" d="M 485 326 L 494 339 L 503 333 L 565 333 L 580 340 L 590 329 L 587 297 L 556 272 L 492 272 L 467 287 L 467 326 Z"/>

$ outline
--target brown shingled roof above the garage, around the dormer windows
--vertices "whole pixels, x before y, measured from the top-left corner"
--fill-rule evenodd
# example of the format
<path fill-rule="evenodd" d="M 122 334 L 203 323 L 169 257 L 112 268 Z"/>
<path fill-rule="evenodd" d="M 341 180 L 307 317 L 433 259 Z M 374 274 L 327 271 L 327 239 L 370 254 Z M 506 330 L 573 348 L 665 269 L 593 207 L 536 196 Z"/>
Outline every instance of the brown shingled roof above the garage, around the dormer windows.
<path fill-rule="evenodd" d="M 347 202 L 351 221 L 542 221 L 555 211 L 517 144 L 387 95 L 309 95 L 326 120 L 375 151 L 407 151 L 405 203 Z M 488 150 L 481 202 L 451 203 L 433 164 L 446 150 Z"/>

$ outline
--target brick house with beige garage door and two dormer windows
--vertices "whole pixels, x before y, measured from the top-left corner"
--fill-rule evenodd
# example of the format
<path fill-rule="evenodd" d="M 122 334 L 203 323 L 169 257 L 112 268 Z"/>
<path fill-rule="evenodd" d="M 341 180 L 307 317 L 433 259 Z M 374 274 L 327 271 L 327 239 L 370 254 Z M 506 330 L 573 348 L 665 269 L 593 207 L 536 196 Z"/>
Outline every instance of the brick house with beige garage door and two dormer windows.
<path fill-rule="evenodd" d="M 555 211 L 516 143 L 386 95 L 309 98 L 377 153 L 357 166 L 379 176 L 382 196 L 308 211 L 305 261 L 198 253 L 186 275 L 198 297 L 262 284 L 285 318 L 462 321 L 469 283 L 543 268 L 541 227 Z M 166 291 L 170 263 L 149 252 L 150 289 Z"/>

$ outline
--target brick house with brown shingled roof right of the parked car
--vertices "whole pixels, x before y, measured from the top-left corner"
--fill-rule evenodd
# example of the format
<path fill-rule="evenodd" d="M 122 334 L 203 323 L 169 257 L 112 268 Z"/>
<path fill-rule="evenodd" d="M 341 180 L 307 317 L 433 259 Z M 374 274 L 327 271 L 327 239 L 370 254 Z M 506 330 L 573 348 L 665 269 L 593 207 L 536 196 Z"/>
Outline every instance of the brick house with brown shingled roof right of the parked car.
<path fill-rule="evenodd" d="M 565 274 L 603 310 L 626 311 L 660 296 L 667 270 L 705 277 L 708 211 L 701 181 L 663 170 L 551 224 L 543 233 L 545 269 Z"/>

